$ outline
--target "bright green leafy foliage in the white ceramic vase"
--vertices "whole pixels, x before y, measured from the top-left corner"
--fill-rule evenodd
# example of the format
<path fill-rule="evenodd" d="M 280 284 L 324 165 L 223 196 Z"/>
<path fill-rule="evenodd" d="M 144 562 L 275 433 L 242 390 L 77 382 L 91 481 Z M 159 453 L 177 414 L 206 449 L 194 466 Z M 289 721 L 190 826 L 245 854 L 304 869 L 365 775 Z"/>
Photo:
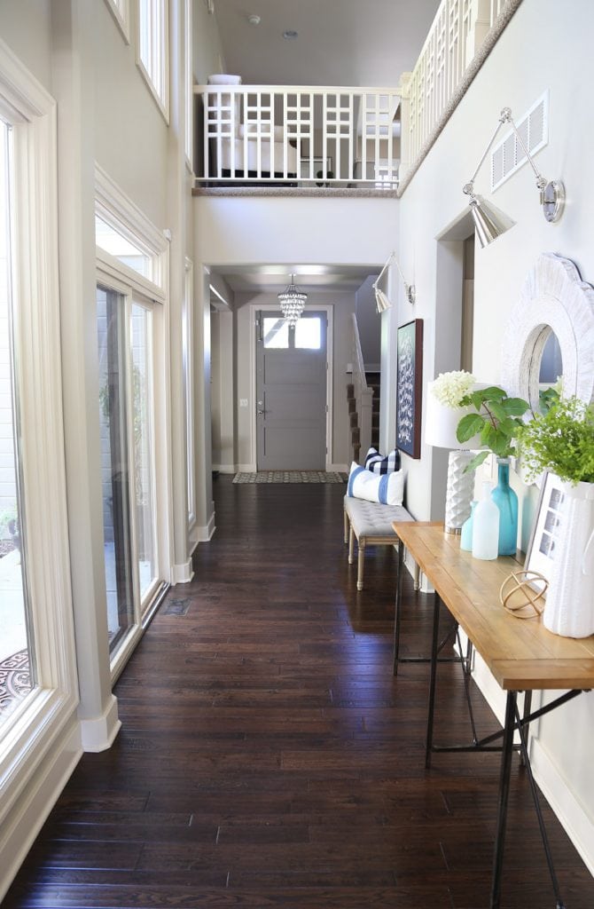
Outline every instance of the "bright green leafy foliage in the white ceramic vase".
<path fill-rule="evenodd" d="M 518 440 L 528 479 L 549 469 L 572 484 L 594 483 L 594 404 L 559 398 L 522 425 Z"/>

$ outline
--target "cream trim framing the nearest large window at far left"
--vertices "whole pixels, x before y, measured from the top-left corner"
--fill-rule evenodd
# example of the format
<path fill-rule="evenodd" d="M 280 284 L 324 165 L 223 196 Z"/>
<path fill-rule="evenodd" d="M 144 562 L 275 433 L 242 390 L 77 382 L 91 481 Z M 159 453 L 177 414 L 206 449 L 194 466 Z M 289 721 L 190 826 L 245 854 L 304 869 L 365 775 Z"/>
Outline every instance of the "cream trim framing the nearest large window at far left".
<path fill-rule="evenodd" d="M 15 347 L 17 352 L 26 351 L 16 357 L 15 370 L 27 583 L 39 685 L 15 713 L 14 722 L 3 727 L 2 852 L 10 832 L 10 824 L 4 823 L 6 815 L 30 785 L 40 762 L 56 749 L 65 724 L 73 722 L 78 689 L 64 473 L 56 108 L 51 95 L 1 40 L 0 96 L 2 115 L 14 126 Z M 42 821 L 40 817 L 39 824 Z M 38 829 L 33 827 L 31 835 Z"/>

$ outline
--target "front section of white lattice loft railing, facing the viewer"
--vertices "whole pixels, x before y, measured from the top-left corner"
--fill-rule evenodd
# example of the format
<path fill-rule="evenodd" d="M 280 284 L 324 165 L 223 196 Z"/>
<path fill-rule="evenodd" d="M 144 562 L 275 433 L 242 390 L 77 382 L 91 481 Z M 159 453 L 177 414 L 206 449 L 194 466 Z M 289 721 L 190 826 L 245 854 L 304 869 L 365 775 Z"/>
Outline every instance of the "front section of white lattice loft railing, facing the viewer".
<path fill-rule="evenodd" d="M 198 185 L 237 180 L 392 189 L 400 96 L 392 88 L 196 85 Z"/>

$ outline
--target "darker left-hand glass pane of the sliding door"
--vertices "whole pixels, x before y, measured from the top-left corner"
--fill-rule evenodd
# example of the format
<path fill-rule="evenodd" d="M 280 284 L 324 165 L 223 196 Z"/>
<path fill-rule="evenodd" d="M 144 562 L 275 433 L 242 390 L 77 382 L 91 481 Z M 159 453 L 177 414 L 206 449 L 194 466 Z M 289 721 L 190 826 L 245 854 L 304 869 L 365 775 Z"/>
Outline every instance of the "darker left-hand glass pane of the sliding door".
<path fill-rule="evenodd" d="M 134 624 L 125 374 L 124 297 L 97 288 L 99 419 L 110 653 Z"/>

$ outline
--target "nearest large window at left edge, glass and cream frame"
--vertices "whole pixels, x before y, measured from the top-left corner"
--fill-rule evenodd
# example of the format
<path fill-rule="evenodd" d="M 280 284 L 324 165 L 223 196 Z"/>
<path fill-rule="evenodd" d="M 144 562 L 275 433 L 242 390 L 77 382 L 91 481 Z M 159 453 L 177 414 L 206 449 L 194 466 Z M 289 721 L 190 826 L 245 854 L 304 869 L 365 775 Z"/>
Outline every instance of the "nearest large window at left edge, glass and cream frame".
<path fill-rule="evenodd" d="M 57 733 L 65 746 L 78 695 L 55 126 L 53 98 L 0 40 L 0 824 L 7 828 L 15 796 L 45 756 L 58 765 Z"/>

